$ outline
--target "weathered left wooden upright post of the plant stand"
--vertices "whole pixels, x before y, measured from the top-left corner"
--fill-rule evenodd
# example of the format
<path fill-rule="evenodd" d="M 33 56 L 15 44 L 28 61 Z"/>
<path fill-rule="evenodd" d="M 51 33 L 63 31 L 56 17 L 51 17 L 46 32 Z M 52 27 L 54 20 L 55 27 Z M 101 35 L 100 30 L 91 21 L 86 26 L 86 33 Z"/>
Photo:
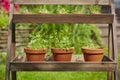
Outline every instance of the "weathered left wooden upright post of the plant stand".
<path fill-rule="evenodd" d="M 13 0 L 10 0 L 5 80 L 10 80 L 10 61 L 11 61 L 11 59 L 13 59 L 13 57 L 15 57 L 15 38 L 13 37 L 13 36 L 15 36 L 15 32 L 14 32 L 15 26 L 13 24 L 13 13 L 14 13 L 14 4 L 13 4 Z"/>

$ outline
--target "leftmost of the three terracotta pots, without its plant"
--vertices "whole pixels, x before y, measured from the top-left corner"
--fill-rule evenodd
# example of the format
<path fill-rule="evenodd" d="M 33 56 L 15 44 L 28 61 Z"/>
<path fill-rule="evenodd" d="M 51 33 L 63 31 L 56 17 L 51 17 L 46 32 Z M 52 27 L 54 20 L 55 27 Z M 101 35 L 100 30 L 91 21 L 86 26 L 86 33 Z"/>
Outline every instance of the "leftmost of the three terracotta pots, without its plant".
<path fill-rule="evenodd" d="M 44 61 L 47 49 L 30 49 L 28 47 L 24 48 L 26 53 L 27 61 Z"/>

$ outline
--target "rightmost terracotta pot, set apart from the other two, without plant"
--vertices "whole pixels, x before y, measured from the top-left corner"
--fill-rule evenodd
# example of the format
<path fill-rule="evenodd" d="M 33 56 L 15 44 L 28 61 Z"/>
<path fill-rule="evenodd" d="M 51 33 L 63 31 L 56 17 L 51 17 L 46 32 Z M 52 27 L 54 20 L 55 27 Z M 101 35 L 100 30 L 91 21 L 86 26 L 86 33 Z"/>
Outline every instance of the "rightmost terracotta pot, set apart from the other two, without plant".
<path fill-rule="evenodd" d="M 82 52 L 85 61 L 101 62 L 104 54 L 104 48 L 91 49 L 88 47 L 82 47 Z"/>

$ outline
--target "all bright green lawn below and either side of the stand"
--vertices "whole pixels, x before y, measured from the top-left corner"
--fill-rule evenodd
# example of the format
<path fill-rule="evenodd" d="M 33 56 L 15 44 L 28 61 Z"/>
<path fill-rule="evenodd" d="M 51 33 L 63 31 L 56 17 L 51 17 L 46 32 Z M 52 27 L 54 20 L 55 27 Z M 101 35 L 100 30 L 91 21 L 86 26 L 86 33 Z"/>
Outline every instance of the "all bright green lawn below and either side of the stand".
<path fill-rule="evenodd" d="M 0 80 L 4 80 L 6 55 L 0 53 L 0 59 Z M 107 80 L 106 75 L 107 72 L 17 72 L 17 80 Z"/>

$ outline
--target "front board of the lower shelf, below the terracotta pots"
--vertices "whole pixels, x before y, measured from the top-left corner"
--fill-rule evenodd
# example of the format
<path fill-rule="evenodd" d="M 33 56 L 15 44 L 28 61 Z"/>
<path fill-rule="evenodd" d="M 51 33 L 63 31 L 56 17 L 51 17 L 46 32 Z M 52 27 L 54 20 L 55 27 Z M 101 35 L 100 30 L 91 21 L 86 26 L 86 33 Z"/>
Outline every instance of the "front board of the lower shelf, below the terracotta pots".
<path fill-rule="evenodd" d="M 24 65 L 24 66 L 23 66 Z M 115 71 L 116 63 L 41 62 L 11 63 L 12 71 Z"/>

